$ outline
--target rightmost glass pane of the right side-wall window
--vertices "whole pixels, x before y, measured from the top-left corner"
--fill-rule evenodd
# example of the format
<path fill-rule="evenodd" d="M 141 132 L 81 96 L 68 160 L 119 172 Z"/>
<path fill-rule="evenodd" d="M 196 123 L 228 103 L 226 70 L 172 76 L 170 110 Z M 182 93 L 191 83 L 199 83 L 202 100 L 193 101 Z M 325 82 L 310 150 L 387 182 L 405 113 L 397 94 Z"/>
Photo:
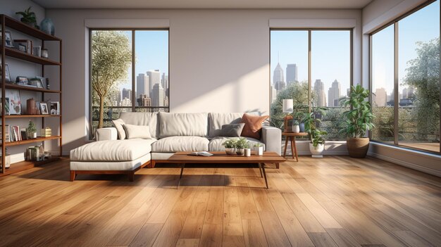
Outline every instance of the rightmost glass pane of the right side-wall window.
<path fill-rule="evenodd" d="M 399 20 L 399 145 L 440 151 L 440 1 Z"/>

